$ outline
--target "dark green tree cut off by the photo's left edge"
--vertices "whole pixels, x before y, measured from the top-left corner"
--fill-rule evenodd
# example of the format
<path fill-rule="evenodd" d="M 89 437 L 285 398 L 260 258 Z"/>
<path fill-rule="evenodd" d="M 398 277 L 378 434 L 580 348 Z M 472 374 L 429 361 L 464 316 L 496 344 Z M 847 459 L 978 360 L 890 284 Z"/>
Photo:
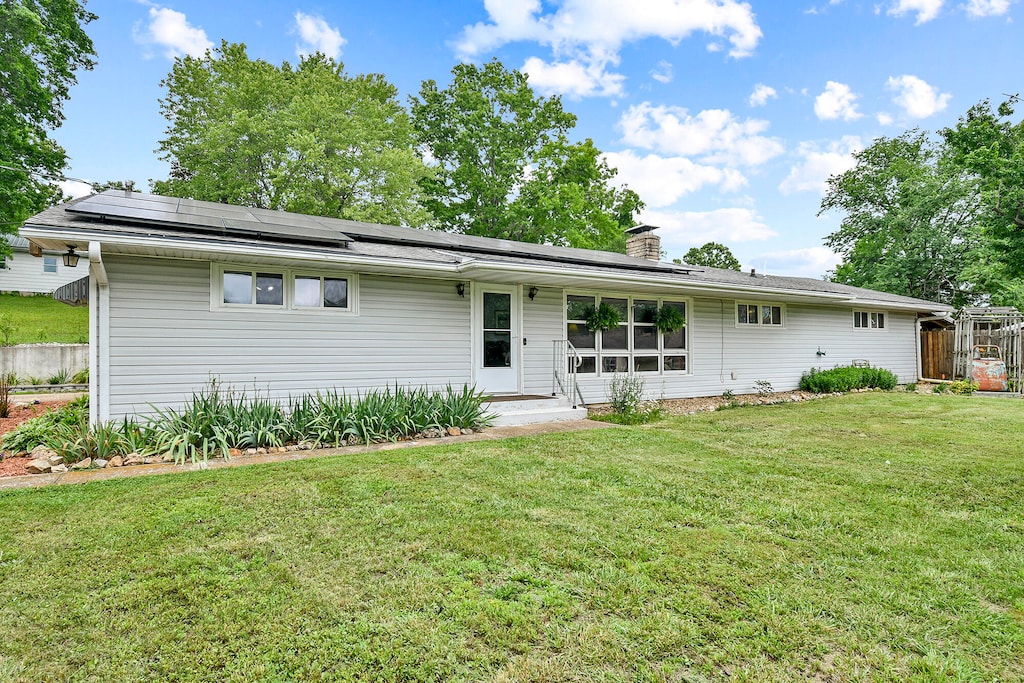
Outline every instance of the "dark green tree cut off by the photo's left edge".
<path fill-rule="evenodd" d="M 52 180 L 68 157 L 48 133 L 76 72 L 95 63 L 84 29 L 94 18 L 77 0 L 0 1 L 0 234 L 62 197 Z M 9 250 L 0 239 L 0 258 Z"/>

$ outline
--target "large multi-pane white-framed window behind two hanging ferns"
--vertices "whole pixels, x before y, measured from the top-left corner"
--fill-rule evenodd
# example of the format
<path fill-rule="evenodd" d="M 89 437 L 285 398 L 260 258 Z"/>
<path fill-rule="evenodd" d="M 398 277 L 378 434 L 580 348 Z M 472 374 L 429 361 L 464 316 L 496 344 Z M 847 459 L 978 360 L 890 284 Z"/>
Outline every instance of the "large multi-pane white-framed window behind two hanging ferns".
<path fill-rule="evenodd" d="M 587 317 L 601 304 L 616 310 L 621 322 L 612 330 L 595 332 L 587 327 Z M 666 306 L 686 317 L 685 301 L 656 297 L 566 295 L 566 339 L 583 358 L 577 373 L 687 372 L 687 328 L 684 326 L 672 333 L 662 333 L 655 324 L 658 309 Z"/>

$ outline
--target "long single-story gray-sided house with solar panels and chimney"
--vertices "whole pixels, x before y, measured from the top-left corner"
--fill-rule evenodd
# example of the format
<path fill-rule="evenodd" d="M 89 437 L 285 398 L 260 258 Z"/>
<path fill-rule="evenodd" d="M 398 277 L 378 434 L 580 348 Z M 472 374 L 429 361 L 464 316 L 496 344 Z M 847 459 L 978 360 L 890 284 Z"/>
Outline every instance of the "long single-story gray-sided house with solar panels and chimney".
<path fill-rule="evenodd" d="M 631 249 L 656 258 L 656 234 L 636 231 Z M 278 397 L 394 384 L 551 395 L 568 391 L 577 357 L 588 402 L 606 400 L 616 372 L 652 397 L 758 380 L 794 389 L 811 368 L 854 359 L 912 382 L 918 317 L 950 310 L 810 279 L 120 190 L 53 207 L 23 234 L 74 245 L 89 267 L 102 420 L 179 405 L 212 377 Z M 623 322 L 590 332 L 584 312 L 602 302 Z M 658 334 L 660 306 L 686 327 Z"/>

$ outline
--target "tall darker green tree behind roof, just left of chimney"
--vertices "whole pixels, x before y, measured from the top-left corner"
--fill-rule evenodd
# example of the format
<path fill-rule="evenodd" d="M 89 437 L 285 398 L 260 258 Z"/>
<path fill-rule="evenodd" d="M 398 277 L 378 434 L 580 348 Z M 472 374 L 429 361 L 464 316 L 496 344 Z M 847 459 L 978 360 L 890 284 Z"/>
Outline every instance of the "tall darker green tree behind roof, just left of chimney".
<path fill-rule="evenodd" d="M 435 173 L 421 180 L 438 226 L 525 242 L 625 251 L 625 229 L 643 208 L 611 185 L 615 170 L 592 140 L 570 142 L 575 117 L 558 97 L 534 93 L 526 76 L 494 59 L 458 65 L 439 88 L 411 98 L 413 124 Z"/>

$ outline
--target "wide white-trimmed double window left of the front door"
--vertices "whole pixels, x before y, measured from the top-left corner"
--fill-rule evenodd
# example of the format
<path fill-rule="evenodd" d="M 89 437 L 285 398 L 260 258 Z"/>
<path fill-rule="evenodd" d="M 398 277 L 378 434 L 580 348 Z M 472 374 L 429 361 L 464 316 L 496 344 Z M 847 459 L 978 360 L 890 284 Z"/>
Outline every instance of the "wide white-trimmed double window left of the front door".
<path fill-rule="evenodd" d="M 213 265 L 214 308 L 354 311 L 354 275 Z"/>

